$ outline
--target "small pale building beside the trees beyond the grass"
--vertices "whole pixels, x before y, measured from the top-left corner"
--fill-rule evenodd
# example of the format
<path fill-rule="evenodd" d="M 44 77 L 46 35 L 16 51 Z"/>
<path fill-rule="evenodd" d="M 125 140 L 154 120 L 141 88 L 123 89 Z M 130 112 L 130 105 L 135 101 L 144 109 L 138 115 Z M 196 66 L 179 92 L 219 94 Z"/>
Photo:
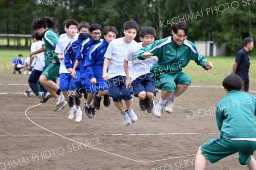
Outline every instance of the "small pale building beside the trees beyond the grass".
<path fill-rule="evenodd" d="M 224 56 L 226 55 L 226 44 L 221 43 L 218 47 L 214 41 L 195 41 L 195 46 L 202 56 Z"/>

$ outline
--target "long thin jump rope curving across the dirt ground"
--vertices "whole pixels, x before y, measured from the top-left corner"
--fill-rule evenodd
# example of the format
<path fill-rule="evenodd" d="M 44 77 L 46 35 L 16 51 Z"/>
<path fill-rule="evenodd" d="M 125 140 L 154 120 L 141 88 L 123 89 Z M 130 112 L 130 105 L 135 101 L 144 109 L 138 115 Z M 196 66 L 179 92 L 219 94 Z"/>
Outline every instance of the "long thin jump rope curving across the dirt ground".
<path fill-rule="evenodd" d="M 83 144 L 83 143 L 78 142 L 78 141 L 74 141 L 74 140 L 72 140 L 72 139 L 70 139 L 70 138 L 67 138 L 67 137 L 65 137 L 65 136 L 63 136 L 63 135 L 60 135 L 60 134 L 55 133 L 55 132 L 53 132 L 53 131 L 51 131 L 51 130 L 48 130 L 48 129 L 46 129 L 45 127 L 42 127 L 42 126 L 40 126 L 39 124 L 36 124 L 35 122 L 33 122 L 33 121 L 27 116 L 26 112 L 27 112 L 29 109 L 31 109 L 31 108 L 33 108 L 33 107 L 40 106 L 40 105 L 41 105 L 41 103 L 40 103 L 40 104 L 37 104 L 37 105 L 35 105 L 35 106 L 31 106 L 31 107 L 29 107 L 29 108 L 27 108 L 27 109 L 25 110 L 26 118 L 28 118 L 29 121 L 31 121 L 33 124 L 35 124 L 35 125 L 38 126 L 38 127 L 41 127 L 41 128 L 44 129 L 44 130 L 47 130 L 47 131 L 50 132 L 50 133 L 54 133 L 55 135 L 58 135 L 58 136 L 60 136 L 60 137 L 62 137 L 62 138 L 65 138 L 65 139 L 68 139 L 68 140 L 70 140 L 70 141 L 76 142 L 77 144 L 82 144 L 82 145 L 84 145 L 84 146 L 86 146 L 86 147 L 90 147 L 90 148 L 93 148 L 93 149 L 96 149 L 96 150 L 99 150 L 99 151 L 102 151 L 102 152 L 105 152 L 105 153 L 109 153 L 109 154 L 114 155 L 114 156 L 118 156 L 118 157 L 121 157 L 121 158 L 125 158 L 125 159 L 128 159 L 128 160 L 136 161 L 136 162 L 140 162 L 140 163 L 152 163 L 152 162 L 157 162 L 157 161 L 165 161 L 165 160 L 170 160 L 170 159 L 177 159 L 177 158 L 183 158 L 183 157 L 188 157 L 188 156 L 196 155 L 196 153 L 195 153 L 195 154 L 191 154 L 191 155 L 179 156 L 179 157 L 175 157 L 175 158 L 159 159 L 159 160 L 155 160 L 155 161 L 138 161 L 138 160 L 135 160 L 135 159 L 132 159 L 132 158 L 128 158 L 128 157 L 125 157 L 125 156 L 121 156 L 121 155 L 117 155 L 117 154 L 115 154 L 115 153 L 108 152 L 108 151 L 106 151 L 106 150 L 101 150 L 101 149 L 99 149 L 99 148 L 92 147 L 92 146 L 90 146 L 90 145 Z"/>

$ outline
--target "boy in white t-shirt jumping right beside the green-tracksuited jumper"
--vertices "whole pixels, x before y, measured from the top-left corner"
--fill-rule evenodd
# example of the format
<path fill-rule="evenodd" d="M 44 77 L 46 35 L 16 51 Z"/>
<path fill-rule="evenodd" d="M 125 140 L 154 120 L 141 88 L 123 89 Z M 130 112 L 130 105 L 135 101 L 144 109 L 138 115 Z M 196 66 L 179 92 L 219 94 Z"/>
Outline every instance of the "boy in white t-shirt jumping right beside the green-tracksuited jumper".
<path fill-rule="evenodd" d="M 124 60 L 126 74 L 126 89 L 131 88 L 134 96 L 140 99 L 139 106 L 142 111 L 147 110 L 151 113 L 154 109 L 154 96 L 156 96 L 154 80 L 151 78 L 150 68 L 154 62 L 158 61 L 157 56 L 150 57 L 144 61 L 137 58 L 138 51 L 154 42 L 156 30 L 151 26 L 141 28 L 141 43 L 132 45 L 129 48 L 128 55 Z M 128 69 L 128 61 L 132 62 L 132 69 Z M 130 73 L 130 74 L 129 74 Z"/>

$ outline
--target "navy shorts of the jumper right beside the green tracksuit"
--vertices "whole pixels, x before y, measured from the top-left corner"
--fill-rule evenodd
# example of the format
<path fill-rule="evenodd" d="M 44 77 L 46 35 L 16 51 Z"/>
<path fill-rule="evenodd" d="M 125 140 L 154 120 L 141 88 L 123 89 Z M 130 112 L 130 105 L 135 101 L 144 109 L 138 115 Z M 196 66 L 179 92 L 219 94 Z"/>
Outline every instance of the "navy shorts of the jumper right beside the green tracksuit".
<path fill-rule="evenodd" d="M 157 95 L 154 80 L 150 73 L 141 75 L 131 82 L 134 96 L 138 97 L 140 92 L 152 92 L 154 96 Z"/>

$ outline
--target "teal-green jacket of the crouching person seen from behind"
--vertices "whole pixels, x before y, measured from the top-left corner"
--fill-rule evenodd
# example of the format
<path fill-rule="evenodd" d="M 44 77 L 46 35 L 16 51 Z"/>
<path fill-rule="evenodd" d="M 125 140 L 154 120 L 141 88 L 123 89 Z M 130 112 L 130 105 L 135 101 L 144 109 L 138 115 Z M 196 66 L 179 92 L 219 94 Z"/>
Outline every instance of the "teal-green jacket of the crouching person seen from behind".
<path fill-rule="evenodd" d="M 224 138 L 256 138 L 256 97 L 230 90 L 217 104 L 216 121 Z"/>

